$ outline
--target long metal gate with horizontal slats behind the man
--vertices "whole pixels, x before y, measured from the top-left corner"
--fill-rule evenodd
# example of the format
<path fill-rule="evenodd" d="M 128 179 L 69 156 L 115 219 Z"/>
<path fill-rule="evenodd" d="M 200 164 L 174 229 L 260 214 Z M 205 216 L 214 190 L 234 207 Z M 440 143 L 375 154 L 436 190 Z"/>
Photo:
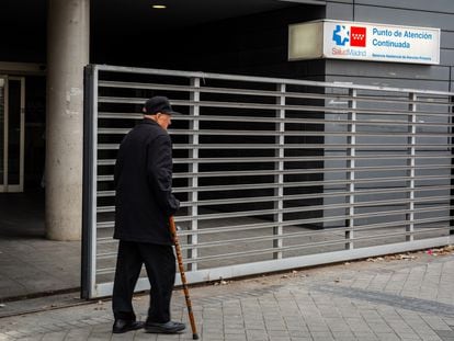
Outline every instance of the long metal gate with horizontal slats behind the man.
<path fill-rule="evenodd" d="M 92 65 L 87 298 L 112 292 L 116 151 L 157 94 L 184 113 L 169 133 L 190 283 L 453 241 L 454 93 Z"/>

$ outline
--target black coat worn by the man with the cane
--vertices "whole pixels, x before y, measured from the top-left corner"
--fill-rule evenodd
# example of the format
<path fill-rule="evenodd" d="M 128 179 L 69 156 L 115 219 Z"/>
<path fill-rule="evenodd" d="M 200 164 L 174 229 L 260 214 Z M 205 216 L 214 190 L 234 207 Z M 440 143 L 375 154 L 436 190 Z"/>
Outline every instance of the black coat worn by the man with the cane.
<path fill-rule="evenodd" d="M 172 143 L 155 121 L 144 118 L 123 139 L 114 182 L 114 238 L 171 245 L 169 217 L 180 206 L 172 194 Z"/>

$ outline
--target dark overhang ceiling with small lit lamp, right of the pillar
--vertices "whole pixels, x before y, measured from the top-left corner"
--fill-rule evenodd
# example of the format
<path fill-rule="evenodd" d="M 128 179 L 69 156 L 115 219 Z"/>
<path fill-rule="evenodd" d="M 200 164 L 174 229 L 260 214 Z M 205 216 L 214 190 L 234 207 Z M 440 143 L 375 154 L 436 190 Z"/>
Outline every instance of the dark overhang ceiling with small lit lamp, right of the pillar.
<path fill-rule="evenodd" d="M 325 4 L 325 0 L 92 0 L 92 25 L 116 29 L 169 27 L 197 25 L 229 18 L 245 16 L 288 8 L 300 3 Z M 154 4 L 167 9 L 156 10 Z M 93 22 L 94 21 L 94 22 Z"/>

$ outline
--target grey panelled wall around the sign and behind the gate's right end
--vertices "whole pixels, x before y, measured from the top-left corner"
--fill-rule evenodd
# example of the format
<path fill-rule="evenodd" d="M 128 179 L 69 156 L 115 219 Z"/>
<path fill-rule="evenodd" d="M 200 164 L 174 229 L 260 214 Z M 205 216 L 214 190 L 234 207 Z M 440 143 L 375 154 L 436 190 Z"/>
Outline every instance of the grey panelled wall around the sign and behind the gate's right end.
<path fill-rule="evenodd" d="M 327 81 L 344 81 L 353 82 L 357 84 L 371 84 L 371 86 L 383 86 L 383 87 L 398 87 L 398 88 L 415 88 L 415 89 L 427 89 L 427 90 L 440 90 L 440 91 L 452 91 L 454 90 L 454 1 L 452 0 L 337 0 L 327 1 L 326 18 L 333 20 L 345 20 L 355 22 L 372 22 L 372 23 L 385 23 L 385 24 L 398 24 L 408 26 L 428 26 L 441 29 L 441 62 L 436 66 L 428 65 L 413 65 L 413 64 L 396 64 L 396 62 L 374 62 L 374 61 L 353 61 L 353 60 L 327 60 L 326 61 L 326 80 Z M 419 110 L 430 110 L 421 109 Z M 327 118 L 331 117 L 327 114 Z M 378 117 L 375 117 L 378 118 Z M 442 118 L 429 118 L 425 117 L 427 122 L 432 120 L 433 122 L 444 120 L 443 122 L 449 123 L 447 115 Z M 342 130 L 344 127 L 327 126 L 326 129 L 330 130 Z M 375 127 L 376 130 L 379 127 Z M 442 128 L 441 128 L 442 129 Z M 445 128 L 446 129 L 446 128 Z M 444 133 L 446 130 L 444 129 Z M 424 127 L 418 128 L 418 132 L 425 130 Z M 442 129 L 443 130 L 443 129 Z M 433 130 L 436 133 L 435 130 Z M 422 141 L 421 139 L 419 139 Z M 429 144 L 443 144 L 446 143 L 446 137 L 431 137 L 430 140 L 424 139 L 424 143 Z M 340 144 L 345 143 L 345 138 L 341 137 L 327 137 L 327 144 Z M 368 139 L 368 143 L 379 144 L 377 138 Z M 387 139 L 386 143 L 393 143 Z M 394 140 L 396 145 L 405 144 L 405 140 Z M 405 155 L 405 151 L 401 151 Z M 420 150 L 419 155 L 423 157 L 429 151 Z M 432 150 L 443 155 L 444 158 L 440 159 L 417 159 L 417 164 L 450 164 L 450 155 L 446 155 L 446 150 Z M 397 152 L 394 150 L 376 150 L 376 155 L 386 155 Z M 326 150 L 326 155 L 339 155 L 332 151 Z M 357 151 L 361 155 L 361 151 Z M 385 161 L 381 161 L 385 164 Z M 391 161 L 388 161 L 388 163 Z M 405 160 L 402 160 L 405 162 Z M 389 163 L 389 166 L 399 166 L 398 163 Z M 336 166 L 339 167 L 337 163 Z M 343 164 L 345 166 L 345 164 Z M 377 162 L 370 161 L 368 164 L 359 166 L 377 166 Z M 402 164 L 405 166 L 405 163 Z M 334 167 L 332 162 L 326 162 L 326 168 Z M 417 171 L 418 175 L 445 175 L 449 178 L 450 170 L 431 170 L 431 171 Z M 367 177 L 398 177 L 399 174 L 388 173 L 368 173 Z M 345 179 L 347 174 L 329 174 L 326 180 L 340 180 Z M 446 183 L 440 184 L 449 184 Z M 429 183 L 425 183 L 429 184 Z M 431 183 L 435 184 L 435 183 Z M 406 186 L 406 183 L 393 183 L 390 186 Z M 357 186 L 361 189 L 372 189 L 386 185 L 362 185 Z M 326 187 L 325 191 L 342 191 L 345 187 L 332 189 Z M 449 193 L 438 193 L 438 195 L 449 195 Z M 365 201 L 371 200 L 383 200 L 384 197 L 364 197 Z M 386 197 L 385 197 L 386 198 Z M 388 195 L 387 198 L 396 198 L 393 195 Z M 340 203 L 342 198 L 327 200 L 326 205 Z M 417 207 L 421 207 L 417 205 Z M 405 207 L 382 207 L 384 209 L 393 208 L 405 208 Z M 364 209 L 357 209 L 357 213 L 362 213 Z M 342 214 L 342 212 L 337 212 Z M 438 212 L 436 214 L 442 215 Z M 447 215 L 447 213 L 446 213 Z M 386 220 L 386 219 L 385 219 Z M 383 219 L 381 221 L 384 221 Z M 378 223 L 378 219 L 370 219 L 368 221 L 362 221 L 365 224 Z"/>

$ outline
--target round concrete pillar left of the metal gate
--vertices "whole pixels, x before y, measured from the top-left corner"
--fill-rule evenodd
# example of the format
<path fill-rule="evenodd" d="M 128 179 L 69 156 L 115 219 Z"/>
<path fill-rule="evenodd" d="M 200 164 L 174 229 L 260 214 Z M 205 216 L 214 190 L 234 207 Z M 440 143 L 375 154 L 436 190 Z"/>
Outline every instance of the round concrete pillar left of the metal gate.
<path fill-rule="evenodd" d="M 80 240 L 90 0 L 47 2 L 46 235 Z"/>

